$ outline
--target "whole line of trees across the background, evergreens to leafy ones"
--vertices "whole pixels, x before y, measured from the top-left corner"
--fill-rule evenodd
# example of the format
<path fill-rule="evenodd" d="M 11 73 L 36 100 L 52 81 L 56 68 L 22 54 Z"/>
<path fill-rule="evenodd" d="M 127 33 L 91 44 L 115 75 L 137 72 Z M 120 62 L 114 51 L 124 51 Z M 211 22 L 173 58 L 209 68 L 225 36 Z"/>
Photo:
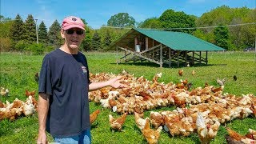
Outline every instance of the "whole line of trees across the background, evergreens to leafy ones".
<path fill-rule="evenodd" d="M 166 10 L 159 18 L 148 18 L 144 22 L 136 22 L 127 13 L 118 13 L 110 17 L 107 26 L 98 30 L 88 26 L 86 20 L 86 38 L 82 42 L 82 50 L 114 50 L 110 43 L 125 34 L 131 27 L 171 30 L 193 34 L 207 42 L 221 46 L 226 50 L 243 50 L 255 45 L 256 9 L 230 8 L 220 6 L 201 17 Z M 42 21 L 36 27 L 36 19 L 29 14 L 25 22 L 19 14 L 16 18 L 0 16 L 1 51 L 30 51 L 42 54 L 62 45 L 60 36 L 61 23 L 57 20 L 47 30 Z M 122 28 L 113 28 L 113 27 Z M 36 28 L 38 28 L 38 43 Z"/>

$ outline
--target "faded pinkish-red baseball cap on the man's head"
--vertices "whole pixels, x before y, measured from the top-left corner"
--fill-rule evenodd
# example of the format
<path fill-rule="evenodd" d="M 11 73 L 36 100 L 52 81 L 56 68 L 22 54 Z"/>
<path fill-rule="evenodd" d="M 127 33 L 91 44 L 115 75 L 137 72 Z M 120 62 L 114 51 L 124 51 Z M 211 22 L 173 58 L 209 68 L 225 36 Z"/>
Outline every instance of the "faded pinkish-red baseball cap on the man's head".
<path fill-rule="evenodd" d="M 85 24 L 81 18 L 70 16 L 63 19 L 62 30 L 69 30 L 71 28 L 79 28 L 85 30 Z"/>

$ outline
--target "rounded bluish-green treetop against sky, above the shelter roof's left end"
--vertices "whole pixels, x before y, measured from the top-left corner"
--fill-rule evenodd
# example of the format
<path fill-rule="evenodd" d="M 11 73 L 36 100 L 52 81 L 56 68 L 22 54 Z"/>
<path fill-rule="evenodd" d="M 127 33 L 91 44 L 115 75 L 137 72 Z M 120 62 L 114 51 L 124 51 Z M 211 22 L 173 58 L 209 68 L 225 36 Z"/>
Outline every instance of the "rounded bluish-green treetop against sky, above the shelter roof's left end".
<path fill-rule="evenodd" d="M 107 21 L 107 26 L 126 27 L 134 26 L 135 19 L 127 13 L 118 13 L 111 16 Z"/>

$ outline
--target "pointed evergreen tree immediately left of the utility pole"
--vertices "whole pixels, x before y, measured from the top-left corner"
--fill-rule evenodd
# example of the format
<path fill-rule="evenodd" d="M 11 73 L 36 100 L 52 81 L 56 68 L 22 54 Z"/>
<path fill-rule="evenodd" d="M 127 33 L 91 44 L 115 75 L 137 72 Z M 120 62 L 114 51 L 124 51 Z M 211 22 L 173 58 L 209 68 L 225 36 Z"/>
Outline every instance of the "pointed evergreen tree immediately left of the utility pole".
<path fill-rule="evenodd" d="M 24 23 L 24 34 L 22 35 L 22 39 L 27 43 L 37 42 L 37 34 L 36 34 L 36 26 L 34 22 L 34 18 L 31 14 L 28 15 L 26 21 Z"/>

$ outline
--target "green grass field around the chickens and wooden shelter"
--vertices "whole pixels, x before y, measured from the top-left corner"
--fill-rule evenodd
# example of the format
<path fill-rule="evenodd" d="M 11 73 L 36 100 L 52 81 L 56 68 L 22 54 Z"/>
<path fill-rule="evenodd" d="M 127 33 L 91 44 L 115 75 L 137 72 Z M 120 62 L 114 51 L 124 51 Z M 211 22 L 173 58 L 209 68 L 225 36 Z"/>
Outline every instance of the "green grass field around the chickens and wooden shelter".
<path fill-rule="evenodd" d="M 243 52 L 216 52 L 210 53 L 209 66 L 182 67 L 182 68 L 159 68 L 152 63 L 144 64 L 116 64 L 116 59 L 121 58 L 121 53 L 86 53 L 91 73 L 113 73 L 119 74 L 122 70 L 134 74 L 134 77 L 144 76 L 151 80 L 154 74 L 162 72 L 162 78 L 158 82 L 179 82 L 179 79 L 188 78 L 193 87 L 204 86 L 205 82 L 218 86 L 216 78 L 226 78 L 225 93 L 254 94 L 256 95 L 256 60 L 254 53 Z M 19 53 L 1 53 L 0 62 L 0 86 L 10 90 L 8 97 L 0 96 L 2 102 L 13 102 L 15 98 L 26 100 L 25 90 L 38 90 L 38 83 L 34 82 L 34 74 L 40 71 L 43 55 L 26 55 Z M 183 69 L 182 77 L 178 76 L 178 70 Z M 191 71 L 195 70 L 195 77 Z M 234 74 L 238 77 L 233 80 Z M 36 95 L 38 98 L 38 94 Z M 175 107 L 165 107 L 159 110 L 173 110 Z M 102 106 L 90 102 L 90 112 L 101 109 Z M 93 143 L 146 143 L 141 132 L 135 125 L 134 116 L 129 115 L 126 119 L 122 132 L 112 133 L 110 130 L 108 115 L 114 114 L 110 110 L 102 110 L 98 119 L 94 122 L 91 130 Z M 147 111 L 145 116 L 149 116 Z M 236 119 L 226 124 L 240 134 L 246 134 L 249 128 L 256 130 L 256 118 Z M 34 114 L 30 117 L 20 117 L 10 122 L 0 122 L 0 143 L 35 143 L 38 134 L 38 117 Z M 211 143 L 226 143 L 224 126 L 218 130 L 218 135 Z M 49 141 L 52 138 L 49 135 Z M 198 135 L 192 134 L 189 137 L 174 137 L 162 131 L 159 143 L 199 143 Z"/>

